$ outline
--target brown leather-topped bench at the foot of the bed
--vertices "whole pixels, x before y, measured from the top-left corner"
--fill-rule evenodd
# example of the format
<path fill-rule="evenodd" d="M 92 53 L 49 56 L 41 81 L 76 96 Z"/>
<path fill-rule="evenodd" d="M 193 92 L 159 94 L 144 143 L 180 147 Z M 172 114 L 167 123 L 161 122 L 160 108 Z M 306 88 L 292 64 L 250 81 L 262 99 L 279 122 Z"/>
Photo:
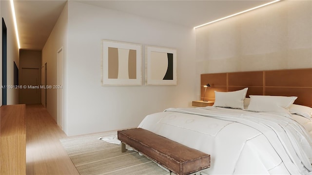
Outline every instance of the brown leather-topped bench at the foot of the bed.
<path fill-rule="evenodd" d="M 210 155 L 142 128 L 117 131 L 118 140 L 164 166 L 176 175 L 191 175 L 210 167 Z"/>

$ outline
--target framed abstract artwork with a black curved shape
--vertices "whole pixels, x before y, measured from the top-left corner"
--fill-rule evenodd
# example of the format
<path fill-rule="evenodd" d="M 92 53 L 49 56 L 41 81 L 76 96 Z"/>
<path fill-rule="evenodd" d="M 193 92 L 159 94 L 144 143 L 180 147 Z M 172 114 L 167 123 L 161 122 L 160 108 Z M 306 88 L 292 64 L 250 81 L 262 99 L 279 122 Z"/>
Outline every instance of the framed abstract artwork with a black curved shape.
<path fill-rule="evenodd" d="M 156 46 L 145 48 L 146 85 L 176 85 L 176 49 Z"/>

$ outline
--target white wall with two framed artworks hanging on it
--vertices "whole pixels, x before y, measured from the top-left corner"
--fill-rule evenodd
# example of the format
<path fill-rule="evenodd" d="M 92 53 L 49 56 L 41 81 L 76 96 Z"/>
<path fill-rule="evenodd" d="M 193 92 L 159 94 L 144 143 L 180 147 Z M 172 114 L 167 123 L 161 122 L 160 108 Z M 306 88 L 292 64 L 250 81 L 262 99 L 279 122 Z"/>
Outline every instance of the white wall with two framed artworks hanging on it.
<path fill-rule="evenodd" d="M 143 86 L 101 86 L 101 39 L 142 44 Z M 145 45 L 177 49 L 177 86 L 145 86 Z M 66 50 L 66 49 L 65 49 Z M 195 31 L 119 11 L 68 2 L 64 131 L 78 135 L 137 127 L 147 115 L 189 107 L 195 83 Z"/>

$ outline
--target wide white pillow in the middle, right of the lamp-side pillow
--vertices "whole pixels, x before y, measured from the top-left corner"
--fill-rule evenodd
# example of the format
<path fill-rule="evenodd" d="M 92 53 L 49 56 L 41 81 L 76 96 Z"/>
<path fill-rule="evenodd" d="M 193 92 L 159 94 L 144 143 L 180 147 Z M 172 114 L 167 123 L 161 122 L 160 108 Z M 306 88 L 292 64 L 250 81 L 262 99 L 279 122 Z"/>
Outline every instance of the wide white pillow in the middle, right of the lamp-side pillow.
<path fill-rule="evenodd" d="M 254 112 L 277 112 L 284 116 L 291 116 L 288 108 L 297 97 L 250 95 L 248 111 Z"/>

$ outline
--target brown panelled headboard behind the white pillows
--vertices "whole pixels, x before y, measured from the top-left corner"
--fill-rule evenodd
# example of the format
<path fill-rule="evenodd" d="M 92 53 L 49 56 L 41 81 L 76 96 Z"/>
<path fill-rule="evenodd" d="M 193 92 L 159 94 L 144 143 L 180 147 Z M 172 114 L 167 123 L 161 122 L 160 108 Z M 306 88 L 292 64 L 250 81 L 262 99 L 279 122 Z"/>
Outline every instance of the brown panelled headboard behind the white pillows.
<path fill-rule="evenodd" d="M 228 92 L 248 87 L 249 95 L 297 96 L 294 104 L 312 107 L 312 69 L 206 73 L 200 75 L 201 100 L 215 101 L 215 90 Z"/>

